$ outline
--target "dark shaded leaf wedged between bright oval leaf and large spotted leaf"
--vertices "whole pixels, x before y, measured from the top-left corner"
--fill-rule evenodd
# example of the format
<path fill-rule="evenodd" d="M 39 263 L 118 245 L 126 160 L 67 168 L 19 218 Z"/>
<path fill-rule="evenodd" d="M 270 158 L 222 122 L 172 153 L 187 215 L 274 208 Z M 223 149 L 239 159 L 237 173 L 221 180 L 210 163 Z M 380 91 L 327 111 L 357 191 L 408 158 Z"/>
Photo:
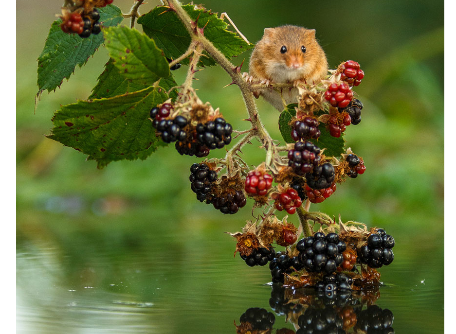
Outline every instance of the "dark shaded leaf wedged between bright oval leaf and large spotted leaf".
<path fill-rule="evenodd" d="M 98 77 L 98 83 L 92 89 L 89 99 L 108 98 L 147 88 L 146 85 L 130 82 L 114 66 L 112 58 L 105 65 L 105 70 Z M 167 89 L 166 87 L 164 87 Z"/>

